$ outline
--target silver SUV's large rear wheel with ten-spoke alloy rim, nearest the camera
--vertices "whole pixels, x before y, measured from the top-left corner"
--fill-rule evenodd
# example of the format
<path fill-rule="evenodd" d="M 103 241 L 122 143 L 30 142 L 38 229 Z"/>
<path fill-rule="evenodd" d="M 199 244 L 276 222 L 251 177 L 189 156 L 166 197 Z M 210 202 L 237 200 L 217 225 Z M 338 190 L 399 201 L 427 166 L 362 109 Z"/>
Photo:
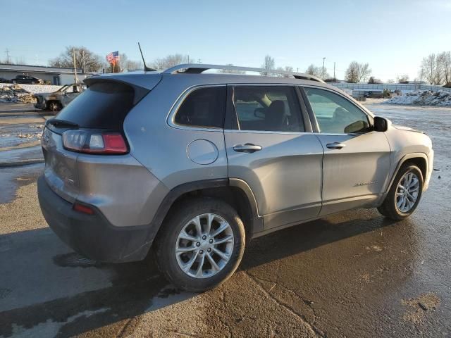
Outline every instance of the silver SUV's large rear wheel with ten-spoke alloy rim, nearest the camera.
<path fill-rule="evenodd" d="M 245 227 L 229 204 L 211 198 L 183 201 L 161 225 L 156 262 L 175 287 L 202 292 L 233 275 L 245 242 Z"/>

